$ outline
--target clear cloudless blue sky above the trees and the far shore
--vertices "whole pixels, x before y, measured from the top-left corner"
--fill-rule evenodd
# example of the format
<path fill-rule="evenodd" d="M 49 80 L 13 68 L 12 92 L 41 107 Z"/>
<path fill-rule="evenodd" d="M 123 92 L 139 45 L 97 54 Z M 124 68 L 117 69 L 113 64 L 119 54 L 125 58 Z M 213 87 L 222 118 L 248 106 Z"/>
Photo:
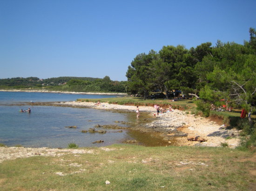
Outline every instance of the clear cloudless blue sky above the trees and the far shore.
<path fill-rule="evenodd" d="M 0 0 L 0 78 L 109 76 L 164 45 L 243 44 L 256 0 Z"/>

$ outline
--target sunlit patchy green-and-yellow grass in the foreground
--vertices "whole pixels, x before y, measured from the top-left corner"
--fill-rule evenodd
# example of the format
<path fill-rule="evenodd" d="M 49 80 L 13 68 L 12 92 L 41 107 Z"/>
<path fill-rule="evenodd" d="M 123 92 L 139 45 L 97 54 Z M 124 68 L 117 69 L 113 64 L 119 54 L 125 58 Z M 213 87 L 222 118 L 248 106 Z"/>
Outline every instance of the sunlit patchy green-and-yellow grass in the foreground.
<path fill-rule="evenodd" d="M 90 149 L 93 153 L 4 161 L 0 163 L 0 190 L 248 191 L 256 188 L 256 157 L 249 151 L 132 145 Z M 107 180 L 109 185 L 105 184 Z"/>

